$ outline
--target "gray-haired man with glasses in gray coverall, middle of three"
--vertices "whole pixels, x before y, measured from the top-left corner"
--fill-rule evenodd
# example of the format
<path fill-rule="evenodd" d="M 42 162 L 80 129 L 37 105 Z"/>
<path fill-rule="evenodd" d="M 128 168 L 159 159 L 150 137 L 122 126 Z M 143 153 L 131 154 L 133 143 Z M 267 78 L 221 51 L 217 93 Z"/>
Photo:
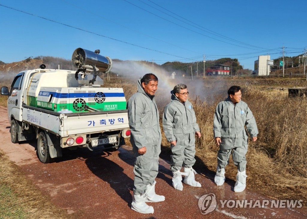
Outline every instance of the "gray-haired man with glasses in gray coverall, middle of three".
<path fill-rule="evenodd" d="M 165 107 L 163 114 L 163 130 L 166 139 L 171 143 L 171 165 L 173 187 L 183 190 L 183 182 L 190 186 L 201 187 L 195 181 L 192 166 L 195 164 L 195 135 L 200 138 L 200 129 L 196 123 L 192 103 L 188 101 L 188 90 L 185 84 L 177 84 L 171 91 L 172 101 Z M 184 173 L 181 172 L 182 166 Z"/>

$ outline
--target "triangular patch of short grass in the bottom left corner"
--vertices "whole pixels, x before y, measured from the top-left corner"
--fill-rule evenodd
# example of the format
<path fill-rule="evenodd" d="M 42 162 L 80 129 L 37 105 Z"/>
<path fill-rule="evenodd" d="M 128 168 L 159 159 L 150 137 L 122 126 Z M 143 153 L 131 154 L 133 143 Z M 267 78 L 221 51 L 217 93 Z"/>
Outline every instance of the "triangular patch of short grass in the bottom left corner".
<path fill-rule="evenodd" d="M 0 151 L 0 218 L 69 219 Z"/>

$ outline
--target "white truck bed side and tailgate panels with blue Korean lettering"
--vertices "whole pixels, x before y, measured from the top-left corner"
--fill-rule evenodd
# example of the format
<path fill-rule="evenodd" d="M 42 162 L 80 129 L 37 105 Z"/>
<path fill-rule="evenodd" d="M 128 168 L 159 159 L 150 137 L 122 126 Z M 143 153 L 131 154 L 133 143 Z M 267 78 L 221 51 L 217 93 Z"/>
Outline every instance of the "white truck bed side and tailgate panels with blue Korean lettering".
<path fill-rule="evenodd" d="M 129 129 L 127 110 L 58 113 L 22 105 L 22 119 L 61 137 Z"/>

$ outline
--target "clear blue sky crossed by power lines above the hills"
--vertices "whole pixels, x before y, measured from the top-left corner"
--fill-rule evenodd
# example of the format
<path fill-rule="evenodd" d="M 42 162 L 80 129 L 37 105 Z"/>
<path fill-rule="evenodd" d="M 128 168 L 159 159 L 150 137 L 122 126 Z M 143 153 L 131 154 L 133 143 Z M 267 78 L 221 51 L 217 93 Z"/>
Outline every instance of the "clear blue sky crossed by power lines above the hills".
<path fill-rule="evenodd" d="M 306 0 L 0 1 L 0 60 L 71 59 L 76 48 L 111 59 L 202 62 L 259 55 L 297 56 L 307 48 Z"/>

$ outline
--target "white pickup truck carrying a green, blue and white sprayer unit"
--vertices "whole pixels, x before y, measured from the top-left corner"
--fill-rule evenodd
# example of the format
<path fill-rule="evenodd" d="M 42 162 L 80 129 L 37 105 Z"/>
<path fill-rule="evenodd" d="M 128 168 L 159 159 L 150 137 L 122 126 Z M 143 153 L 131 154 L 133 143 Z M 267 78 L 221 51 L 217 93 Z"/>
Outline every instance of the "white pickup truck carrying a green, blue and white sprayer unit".
<path fill-rule="evenodd" d="M 19 72 L 8 87 L 8 119 L 13 143 L 37 139 L 42 163 L 62 156 L 62 148 L 119 148 L 130 136 L 122 88 L 101 87 L 97 72 L 107 73 L 112 61 L 82 48 L 75 50 L 76 72 L 45 69 Z"/>

